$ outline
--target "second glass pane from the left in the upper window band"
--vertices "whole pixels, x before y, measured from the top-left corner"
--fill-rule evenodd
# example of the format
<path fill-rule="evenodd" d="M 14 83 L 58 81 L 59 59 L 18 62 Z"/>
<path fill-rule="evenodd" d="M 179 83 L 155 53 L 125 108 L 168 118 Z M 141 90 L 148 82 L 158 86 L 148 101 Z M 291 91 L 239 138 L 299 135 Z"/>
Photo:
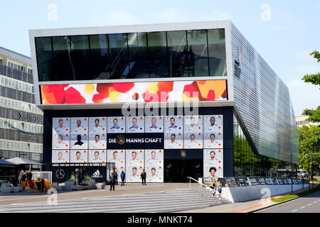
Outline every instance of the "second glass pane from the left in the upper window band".
<path fill-rule="evenodd" d="M 53 80 L 75 80 L 71 67 L 70 39 L 68 36 L 52 38 L 53 43 Z"/>

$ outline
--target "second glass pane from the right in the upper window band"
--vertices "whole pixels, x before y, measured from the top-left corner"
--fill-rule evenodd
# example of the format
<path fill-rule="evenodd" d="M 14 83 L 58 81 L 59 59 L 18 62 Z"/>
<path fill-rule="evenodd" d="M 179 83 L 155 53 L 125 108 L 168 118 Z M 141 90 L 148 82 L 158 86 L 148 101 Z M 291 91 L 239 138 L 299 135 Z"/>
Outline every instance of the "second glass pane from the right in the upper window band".
<path fill-rule="evenodd" d="M 207 77 L 208 48 L 206 30 L 188 31 L 189 77 Z"/>

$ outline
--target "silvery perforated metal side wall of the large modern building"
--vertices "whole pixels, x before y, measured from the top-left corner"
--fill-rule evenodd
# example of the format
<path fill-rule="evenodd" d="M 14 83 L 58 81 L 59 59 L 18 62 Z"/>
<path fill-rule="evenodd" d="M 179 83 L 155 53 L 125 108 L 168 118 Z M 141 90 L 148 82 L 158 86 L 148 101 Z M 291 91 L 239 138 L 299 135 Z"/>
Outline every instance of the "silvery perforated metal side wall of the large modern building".
<path fill-rule="evenodd" d="M 287 86 L 233 23 L 230 29 L 234 99 L 258 153 L 298 163 L 298 131 Z"/>

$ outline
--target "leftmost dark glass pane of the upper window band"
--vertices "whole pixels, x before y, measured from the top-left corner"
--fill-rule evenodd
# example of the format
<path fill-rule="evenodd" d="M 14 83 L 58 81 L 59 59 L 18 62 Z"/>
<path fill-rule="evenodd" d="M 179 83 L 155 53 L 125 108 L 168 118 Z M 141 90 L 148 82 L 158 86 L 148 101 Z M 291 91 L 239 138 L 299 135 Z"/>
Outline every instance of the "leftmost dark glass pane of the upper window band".
<path fill-rule="evenodd" d="M 50 37 L 35 38 L 39 81 L 53 80 L 52 46 Z"/>

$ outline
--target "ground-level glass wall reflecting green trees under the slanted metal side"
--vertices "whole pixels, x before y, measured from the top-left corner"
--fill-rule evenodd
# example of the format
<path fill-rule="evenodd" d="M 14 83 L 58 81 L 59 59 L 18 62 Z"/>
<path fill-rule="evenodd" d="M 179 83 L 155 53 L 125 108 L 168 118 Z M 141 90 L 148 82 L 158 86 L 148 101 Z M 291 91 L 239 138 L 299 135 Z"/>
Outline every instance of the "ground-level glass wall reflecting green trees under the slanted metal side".
<path fill-rule="evenodd" d="M 291 173 L 291 167 L 289 162 L 254 153 L 237 118 L 233 116 L 234 177 L 284 177 Z"/>

